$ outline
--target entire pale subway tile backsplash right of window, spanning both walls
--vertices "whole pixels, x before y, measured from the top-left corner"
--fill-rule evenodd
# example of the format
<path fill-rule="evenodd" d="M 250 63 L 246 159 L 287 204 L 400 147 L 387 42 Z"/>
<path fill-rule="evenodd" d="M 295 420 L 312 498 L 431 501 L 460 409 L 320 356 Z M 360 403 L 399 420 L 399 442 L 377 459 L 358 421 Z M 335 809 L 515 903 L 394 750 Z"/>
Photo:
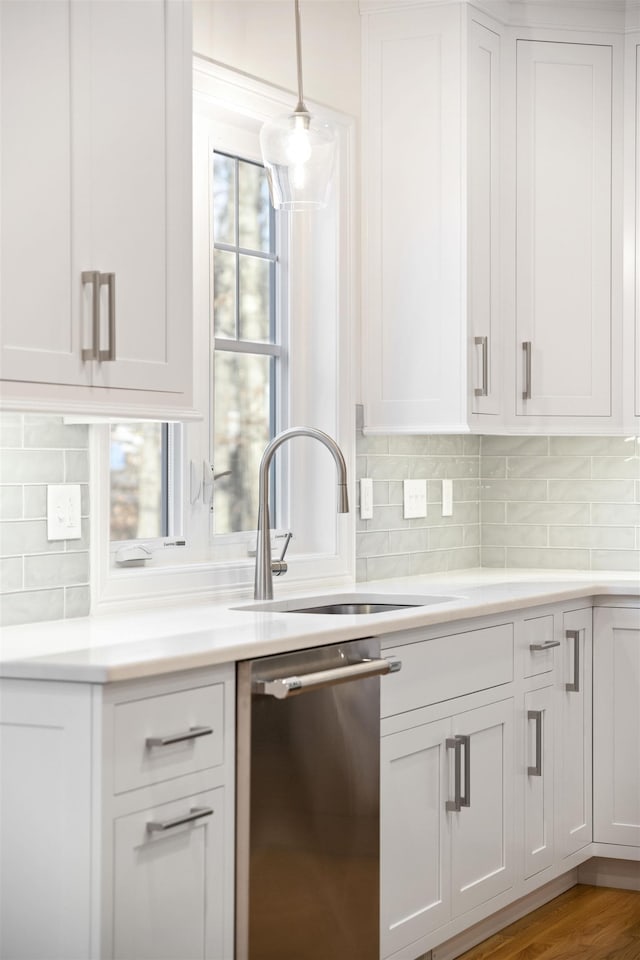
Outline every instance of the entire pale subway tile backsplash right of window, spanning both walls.
<path fill-rule="evenodd" d="M 463 567 L 637 570 L 640 439 L 372 436 L 358 411 L 358 477 L 373 519 L 358 519 L 357 577 Z M 427 480 L 427 516 L 405 520 L 402 481 Z M 442 479 L 453 516 L 442 516 Z"/>

